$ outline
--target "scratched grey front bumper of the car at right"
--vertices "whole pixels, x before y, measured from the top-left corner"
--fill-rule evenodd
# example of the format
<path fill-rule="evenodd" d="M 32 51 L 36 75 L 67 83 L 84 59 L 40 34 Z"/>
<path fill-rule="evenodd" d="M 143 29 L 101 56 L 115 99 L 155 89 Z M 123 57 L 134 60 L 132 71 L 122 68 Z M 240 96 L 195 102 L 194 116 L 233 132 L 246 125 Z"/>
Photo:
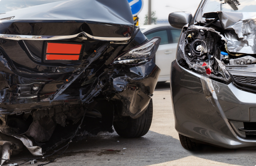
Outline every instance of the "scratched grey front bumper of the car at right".
<path fill-rule="evenodd" d="M 226 148 L 256 146 L 256 139 L 239 130 L 243 122 L 256 122 L 256 94 L 189 71 L 176 60 L 170 80 L 177 132 Z"/>

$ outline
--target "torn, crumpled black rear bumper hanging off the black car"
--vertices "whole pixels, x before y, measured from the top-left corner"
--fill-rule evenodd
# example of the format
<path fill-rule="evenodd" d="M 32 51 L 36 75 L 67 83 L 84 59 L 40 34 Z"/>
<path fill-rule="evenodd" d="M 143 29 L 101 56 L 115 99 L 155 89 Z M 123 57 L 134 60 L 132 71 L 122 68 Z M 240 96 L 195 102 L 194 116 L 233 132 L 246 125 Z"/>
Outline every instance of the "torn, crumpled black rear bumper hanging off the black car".
<path fill-rule="evenodd" d="M 83 92 L 81 83 L 79 86 L 71 85 L 50 103 L 49 96 L 55 93 L 64 81 L 24 78 L 6 69 L 5 72 L 0 72 L 0 114 L 22 114 L 33 109 L 81 105 L 84 96 L 90 96 L 90 103 L 102 93 L 108 99 L 122 102 L 123 109 L 118 111 L 121 116 L 140 117 L 153 95 L 160 68 L 153 61 L 149 61 L 140 66 L 128 66 L 118 74 L 115 72 L 116 70 L 103 73 L 102 78 L 98 78 L 100 85 L 92 85 L 89 91 Z M 106 85 L 101 83 L 104 80 Z M 34 85 L 39 87 L 38 90 L 33 90 Z"/>

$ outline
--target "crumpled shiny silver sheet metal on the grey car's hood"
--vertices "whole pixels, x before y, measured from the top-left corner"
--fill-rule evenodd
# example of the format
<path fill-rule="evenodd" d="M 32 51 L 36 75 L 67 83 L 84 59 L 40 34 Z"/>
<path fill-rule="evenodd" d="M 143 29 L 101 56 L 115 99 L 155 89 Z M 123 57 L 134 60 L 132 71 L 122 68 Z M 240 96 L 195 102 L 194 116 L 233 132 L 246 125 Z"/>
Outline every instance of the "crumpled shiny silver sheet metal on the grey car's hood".
<path fill-rule="evenodd" d="M 256 54 L 256 12 L 217 12 L 229 52 Z M 236 56 L 239 56 L 236 55 Z"/>

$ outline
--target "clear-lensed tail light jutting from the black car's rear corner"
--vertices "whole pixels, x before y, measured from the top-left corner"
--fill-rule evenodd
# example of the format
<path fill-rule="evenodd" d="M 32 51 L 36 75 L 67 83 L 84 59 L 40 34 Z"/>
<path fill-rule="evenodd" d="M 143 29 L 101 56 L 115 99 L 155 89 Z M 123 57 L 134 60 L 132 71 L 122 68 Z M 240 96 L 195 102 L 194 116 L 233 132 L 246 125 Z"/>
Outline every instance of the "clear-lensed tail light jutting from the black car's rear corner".
<path fill-rule="evenodd" d="M 118 56 L 112 64 L 137 65 L 150 61 L 158 50 L 160 42 L 160 37 L 154 37 L 146 43 L 130 49 L 121 56 Z"/>

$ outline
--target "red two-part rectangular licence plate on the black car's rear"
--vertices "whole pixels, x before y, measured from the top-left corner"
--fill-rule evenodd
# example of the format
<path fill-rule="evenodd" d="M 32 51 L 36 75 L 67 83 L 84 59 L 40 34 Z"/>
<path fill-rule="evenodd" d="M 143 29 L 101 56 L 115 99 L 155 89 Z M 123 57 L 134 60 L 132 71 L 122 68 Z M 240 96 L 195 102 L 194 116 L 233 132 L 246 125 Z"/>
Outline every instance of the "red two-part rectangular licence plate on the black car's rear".
<path fill-rule="evenodd" d="M 47 43 L 45 60 L 79 60 L 82 44 Z"/>

